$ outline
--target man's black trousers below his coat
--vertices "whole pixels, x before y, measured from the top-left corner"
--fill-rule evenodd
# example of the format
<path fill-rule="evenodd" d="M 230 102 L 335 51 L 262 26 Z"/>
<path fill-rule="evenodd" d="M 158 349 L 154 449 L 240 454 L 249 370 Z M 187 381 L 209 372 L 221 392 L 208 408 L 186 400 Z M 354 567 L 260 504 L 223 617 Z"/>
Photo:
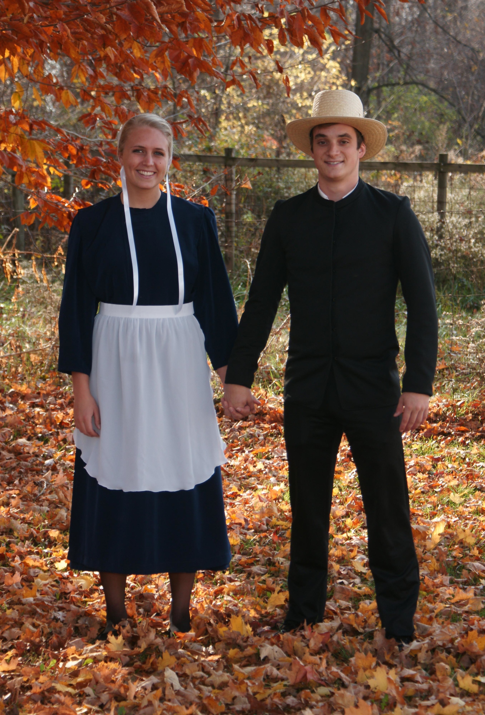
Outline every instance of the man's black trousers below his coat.
<path fill-rule="evenodd" d="M 333 373 L 318 410 L 309 410 L 302 403 L 285 404 L 293 515 L 286 616 L 290 626 L 323 620 L 333 474 L 338 447 L 346 433 L 366 511 L 369 566 L 381 622 L 387 638 L 413 635 L 419 568 L 395 411 L 396 405 L 346 410 L 338 399 Z"/>

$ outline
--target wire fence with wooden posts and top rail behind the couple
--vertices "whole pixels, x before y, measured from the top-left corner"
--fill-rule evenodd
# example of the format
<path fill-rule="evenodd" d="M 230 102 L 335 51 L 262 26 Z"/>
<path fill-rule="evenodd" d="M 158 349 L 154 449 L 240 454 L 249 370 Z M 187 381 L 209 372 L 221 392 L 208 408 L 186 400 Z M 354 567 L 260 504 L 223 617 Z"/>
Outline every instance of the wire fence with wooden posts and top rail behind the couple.
<path fill-rule="evenodd" d="M 197 163 L 187 161 L 186 157 L 181 159 L 180 169 L 172 172 L 173 189 L 192 199 L 205 197 L 214 209 L 235 299 L 242 307 L 265 222 L 275 202 L 312 187 L 317 181 L 317 172 L 312 162 L 305 160 L 240 159 L 232 157 L 232 152 L 226 152 L 225 157 L 197 157 Z M 431 250 L 442 323 L 449 324 L 444 338 L 448 340 L 448 354 L 451 355 L 453 346 L 462 340 L 462 351 L 473 352 L 475 372 L 483 372 L 485 166 L 457 167 L 446 161 L 442 159 L 441 164 L 364 162 L 361 175 L 375 187 L 410 198 Z M 418 169 L 411 170 L 416 166 Z M 450 166 L 453 171 L 448 171 Z M 24 250 L 19 250 L 18 227 L 12 231 L 16 221 L 13 201 L 16 197 L 12 193 L 9 196 L 8 189 L 4 188 L 0 195 L 0 262 L 4 272 L 0 282 L 0 369 L 5 370 L 8 365 L 9 369 L 25 370 L 30 366 L 45 371 L 55 366 L 57 357 L 57 311 L 67 236 L 45 228 L 36 232 L 35 225 L 25 227 Z M 404 325 L 405 310 L 405 305 L 398 301 L 396 325 Z M 276 378 L 275 370 L 278 372 L 285 362 L 288 312 L 284 296 L 272 342 L 260 361 L 263 373 L 273 364 L 273 378 L 278 380 L 281 374 Z M 270 360 L 271 354 L 274 360 Z"/>

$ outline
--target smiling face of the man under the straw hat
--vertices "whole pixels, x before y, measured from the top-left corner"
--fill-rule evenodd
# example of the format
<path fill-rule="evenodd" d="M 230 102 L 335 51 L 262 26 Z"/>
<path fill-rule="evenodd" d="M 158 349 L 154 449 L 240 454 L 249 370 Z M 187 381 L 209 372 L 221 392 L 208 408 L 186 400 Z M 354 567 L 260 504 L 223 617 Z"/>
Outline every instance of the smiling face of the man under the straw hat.
<path fill-rule="evenodd" d="M 341 181 L 350 177 L 365 153 L 363 143 L 357 148 L 356 130 L 348 124 L 319 124 L 313 128 L 312 157 L 325 179 Z"/>

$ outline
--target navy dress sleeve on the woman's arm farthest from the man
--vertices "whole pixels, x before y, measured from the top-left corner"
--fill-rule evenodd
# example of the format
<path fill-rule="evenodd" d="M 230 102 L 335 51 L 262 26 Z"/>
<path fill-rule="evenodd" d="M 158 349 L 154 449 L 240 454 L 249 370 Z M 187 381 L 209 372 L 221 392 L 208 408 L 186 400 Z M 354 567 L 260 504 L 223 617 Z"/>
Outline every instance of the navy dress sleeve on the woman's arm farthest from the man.
<path fill-rule="evenodd" d="M 97 299 L 82 260 L 79 216 L 72 222 L 59 312 L 59 372 L 91 373 L 92 331 Z"/>

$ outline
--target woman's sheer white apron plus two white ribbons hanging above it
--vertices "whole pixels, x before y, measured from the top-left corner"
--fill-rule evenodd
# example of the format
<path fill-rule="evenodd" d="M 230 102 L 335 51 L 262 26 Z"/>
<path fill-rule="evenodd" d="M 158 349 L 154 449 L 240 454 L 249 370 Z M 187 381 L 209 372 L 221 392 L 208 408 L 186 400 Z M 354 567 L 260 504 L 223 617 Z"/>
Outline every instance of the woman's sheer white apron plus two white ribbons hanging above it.
<path fill-rule="evenodd" d="M 100 303 L 94 319 L 89 388 L 99 405 L 99 438 L 74 430 L 89 475 L 108 489 L 178 491 L 207 481 L 227 460 L 212 402 L 204 335 L 183 303 L 177 255 L 178 305 L 137 305 L 138 265 L 122 169 L 124 215 L 133 265 L 133 305 Z"/>

